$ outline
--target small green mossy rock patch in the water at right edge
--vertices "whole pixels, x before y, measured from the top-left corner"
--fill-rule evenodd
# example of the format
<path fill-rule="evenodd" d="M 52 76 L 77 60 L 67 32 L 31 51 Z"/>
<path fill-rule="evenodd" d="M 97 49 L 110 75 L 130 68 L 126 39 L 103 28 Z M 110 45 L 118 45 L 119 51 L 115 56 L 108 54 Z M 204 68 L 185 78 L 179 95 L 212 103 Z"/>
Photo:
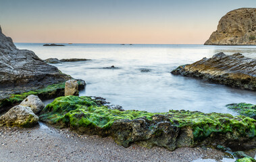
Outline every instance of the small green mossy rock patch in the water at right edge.
<path fill-rule="evenodd" d="M 228 107 L 228 109 L 236 111 L 240 115 L 245 115 L 253 119 L 256 119 L 256 105 L 250 103 L 232 103 L 226 105 L 226 107 Z"/>

